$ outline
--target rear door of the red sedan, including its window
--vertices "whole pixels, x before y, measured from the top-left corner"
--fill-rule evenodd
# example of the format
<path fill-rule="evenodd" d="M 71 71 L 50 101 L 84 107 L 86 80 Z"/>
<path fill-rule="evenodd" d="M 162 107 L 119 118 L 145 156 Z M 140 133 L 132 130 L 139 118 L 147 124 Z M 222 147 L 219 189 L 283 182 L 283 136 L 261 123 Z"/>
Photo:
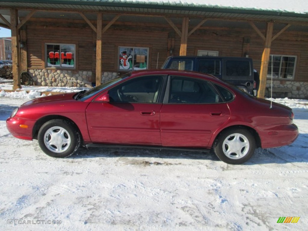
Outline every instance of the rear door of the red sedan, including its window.
<path fill-rule="evenodd" d="M 163 146 L 206 147 L 229 117 L 227 103 L 209 81 L 169 76 L 160 111 Z"/>

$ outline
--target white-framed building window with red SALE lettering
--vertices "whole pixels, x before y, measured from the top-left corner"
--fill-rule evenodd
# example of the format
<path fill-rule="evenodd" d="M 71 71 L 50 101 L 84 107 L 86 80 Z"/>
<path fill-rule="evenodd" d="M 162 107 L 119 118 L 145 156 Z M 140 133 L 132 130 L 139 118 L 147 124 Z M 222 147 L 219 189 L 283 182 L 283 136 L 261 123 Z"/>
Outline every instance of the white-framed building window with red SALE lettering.
<path fill-rule="evenodd" d="M 75 44 L 45 44 L 45 66 L 75 69 Z"/>

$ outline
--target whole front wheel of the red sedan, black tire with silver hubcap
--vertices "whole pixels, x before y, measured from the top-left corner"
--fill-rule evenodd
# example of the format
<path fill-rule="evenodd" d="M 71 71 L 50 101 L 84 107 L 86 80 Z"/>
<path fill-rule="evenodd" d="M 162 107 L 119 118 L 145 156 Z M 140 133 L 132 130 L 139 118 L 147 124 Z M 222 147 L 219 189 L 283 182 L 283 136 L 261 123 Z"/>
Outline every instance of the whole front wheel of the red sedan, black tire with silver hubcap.
<path fill-rule="evenodd" d="M 39 146 L 48 156 L 65 158 L 79 148 L 81 136 L 74 124 L 67 120 L 49 120 L 39 129 Z"/>

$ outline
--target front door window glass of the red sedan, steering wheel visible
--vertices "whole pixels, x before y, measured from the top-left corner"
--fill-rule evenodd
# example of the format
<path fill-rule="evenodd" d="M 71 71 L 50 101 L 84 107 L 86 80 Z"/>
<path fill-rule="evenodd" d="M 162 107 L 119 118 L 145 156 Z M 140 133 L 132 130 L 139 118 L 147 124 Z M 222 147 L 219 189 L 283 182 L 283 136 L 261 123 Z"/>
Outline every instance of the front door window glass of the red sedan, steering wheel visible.
<path fill-rule="evenodd" d="M 110 102 L 157 103 L 163 78 L 150 75 L 129 79 L 108 91 Z"/>

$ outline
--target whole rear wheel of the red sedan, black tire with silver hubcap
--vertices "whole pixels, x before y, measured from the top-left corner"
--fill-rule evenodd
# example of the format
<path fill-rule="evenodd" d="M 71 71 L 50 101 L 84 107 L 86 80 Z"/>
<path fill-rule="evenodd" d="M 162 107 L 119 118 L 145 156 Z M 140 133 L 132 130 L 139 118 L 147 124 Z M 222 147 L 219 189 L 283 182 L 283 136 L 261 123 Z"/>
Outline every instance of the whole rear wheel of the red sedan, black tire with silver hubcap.
<path fill-rule="evenodd" d="M 221 161 L 227 164 L 243 164 L 253 155 L 256 141 L 248 130 L 230 128 L 221 132 L 213 149 Z"/>

